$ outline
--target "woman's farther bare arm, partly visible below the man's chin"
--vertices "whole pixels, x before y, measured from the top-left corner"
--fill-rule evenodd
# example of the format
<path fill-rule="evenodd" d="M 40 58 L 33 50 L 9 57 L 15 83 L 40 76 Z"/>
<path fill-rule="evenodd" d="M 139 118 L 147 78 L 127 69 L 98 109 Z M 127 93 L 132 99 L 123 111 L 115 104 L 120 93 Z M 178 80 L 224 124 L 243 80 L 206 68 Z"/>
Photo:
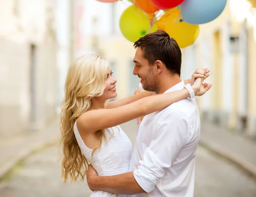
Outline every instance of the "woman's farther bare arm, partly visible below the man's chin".
<path fill-rule="evenodd" d="M 123 106 L 125 104 L 132 103 L 132 102 L 137 101 L 139 99 L 142 99 L 146 96 L 152 96 L 152 94 L 153 94 L 153 92 L 143 91 L 143 92 L 135 94 L 133 96 L 129 96 L 125 99 L 118 99 L 116 101 L 112 101 L 108 104 L 108 109 L 115 108 L 115 107 L 120 107 L 120 106 Z"/>

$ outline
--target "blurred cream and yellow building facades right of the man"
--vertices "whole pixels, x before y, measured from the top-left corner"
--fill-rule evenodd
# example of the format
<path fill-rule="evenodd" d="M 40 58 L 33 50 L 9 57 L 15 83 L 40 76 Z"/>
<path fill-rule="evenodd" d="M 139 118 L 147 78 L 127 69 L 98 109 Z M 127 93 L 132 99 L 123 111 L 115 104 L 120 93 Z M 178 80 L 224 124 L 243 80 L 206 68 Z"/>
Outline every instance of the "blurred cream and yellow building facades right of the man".
<path fill-rule="evenodd" d="M 256 0 L 228 0 L 217 19 L 200 25 L 197 41 L 183 49 L 183 73 L 211 70 L 212 90 L 198 98 L 203 120 L 256 136 L 255 54 Z"/>

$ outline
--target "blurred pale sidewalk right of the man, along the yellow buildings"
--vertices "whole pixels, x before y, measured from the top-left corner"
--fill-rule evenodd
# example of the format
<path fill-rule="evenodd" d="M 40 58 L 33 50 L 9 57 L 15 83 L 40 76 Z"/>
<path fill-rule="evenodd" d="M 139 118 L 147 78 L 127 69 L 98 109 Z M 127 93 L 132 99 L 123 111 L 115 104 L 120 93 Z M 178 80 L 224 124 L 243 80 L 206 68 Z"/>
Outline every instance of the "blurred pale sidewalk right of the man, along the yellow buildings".
<path fill-rule="evenodd" d="M 210 123 L 201 122 L 199 145 L 222 156 L 256 179 L 256 141 Z"/>

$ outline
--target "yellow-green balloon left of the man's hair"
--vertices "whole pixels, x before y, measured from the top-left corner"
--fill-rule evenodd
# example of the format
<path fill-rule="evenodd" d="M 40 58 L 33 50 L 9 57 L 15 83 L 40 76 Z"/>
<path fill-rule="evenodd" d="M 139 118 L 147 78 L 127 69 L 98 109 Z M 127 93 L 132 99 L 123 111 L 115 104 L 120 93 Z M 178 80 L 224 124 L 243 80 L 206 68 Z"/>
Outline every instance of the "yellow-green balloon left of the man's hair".
<path fill-rule="evenodd" d="M 124 37 L 131 42 L 135 42 L 148 33 L 150 21 L 140 9 L 132 5 L 122 13 L 119 26 Z M 154 24 L 151 32 L 155 32 L 156 30 L 157 25 Z"/>

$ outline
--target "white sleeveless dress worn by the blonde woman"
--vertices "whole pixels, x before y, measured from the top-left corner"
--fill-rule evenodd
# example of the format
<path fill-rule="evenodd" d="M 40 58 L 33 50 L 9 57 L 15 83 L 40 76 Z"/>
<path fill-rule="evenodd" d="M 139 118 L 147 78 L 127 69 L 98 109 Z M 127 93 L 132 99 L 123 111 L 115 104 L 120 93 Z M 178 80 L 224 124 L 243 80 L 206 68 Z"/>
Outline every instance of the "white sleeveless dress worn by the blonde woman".
<path fill-rule="evenodd" d="M 105 129 L 107 142 L 102 142 L 102 147 L 94 152 L 92 159 L 93 150 L 84 144 L 76 123 L 74 125 L 74 133 L 79 147 L 99 176 L 112 176 L 129 171 L 132 152 L 131 141 L 121 127 L 116 126 L 112 127 L 112 129 Z M 93 191 L 90 197 L 127 197 L 127 195 Z"/>

